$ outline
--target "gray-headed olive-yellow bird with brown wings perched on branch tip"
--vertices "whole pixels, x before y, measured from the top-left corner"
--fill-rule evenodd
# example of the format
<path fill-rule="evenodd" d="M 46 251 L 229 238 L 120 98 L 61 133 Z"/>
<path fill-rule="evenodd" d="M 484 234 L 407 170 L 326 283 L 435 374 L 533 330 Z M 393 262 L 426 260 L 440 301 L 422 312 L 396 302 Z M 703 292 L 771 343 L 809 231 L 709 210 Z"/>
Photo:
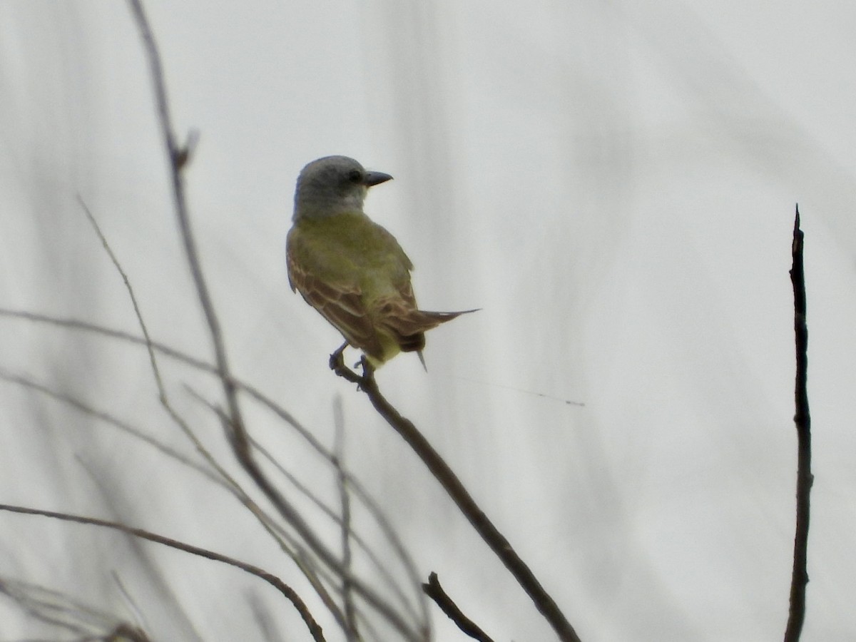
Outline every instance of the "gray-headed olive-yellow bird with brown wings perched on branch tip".
<path fill-rule="evenodd" d="M 300 171 L 286 239 L 288 284 L 344 336 L 334 357 L 351 345 L 377 369 L 415 352 L 425 368 L 425 332 L 476 310 L 419 310 L 413 263 L 363 211 L 369 187 L 390 180 L 347 156 L 318 158 Z"/>

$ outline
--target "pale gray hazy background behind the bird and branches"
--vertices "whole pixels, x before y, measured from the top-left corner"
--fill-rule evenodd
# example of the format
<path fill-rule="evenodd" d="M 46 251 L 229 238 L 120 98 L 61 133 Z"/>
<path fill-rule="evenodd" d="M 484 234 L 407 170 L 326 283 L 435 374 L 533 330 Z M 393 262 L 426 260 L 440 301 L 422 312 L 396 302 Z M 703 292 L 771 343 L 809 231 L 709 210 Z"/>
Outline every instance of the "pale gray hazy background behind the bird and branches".
<path fill-rule="evenodd" d="M 354 471 L 420 572 L 437 571 L 496 639 L 552 635 L 419 461 L 327 369 L 340 337 L 285 276 L 297 172 L 342 153 L 395 175 L 366 209 L 416 264 L 420 303 L 483 308 L 431 332 L 427 374 L 405 355 L 378 380 L 584 640 L 782 637 L 799 201 L 817 474 L 804 639 L 853 639 L 856 4 L 146 8 L 178 133 L 202 136 L 187 185 L 235 372 L 326 443 L 343 395 Z M 209 358 L 125 3 L 0 3 L 0 306 L 136 331 L 77 194 L 153 336 Z M 0 318 L 0 368 L 187 449 L 138 349 Z M 194 377 L 172 368 L 170 390 L 218 443 L 181 388 Z M 194 385 L 218 399 L 210 380 Z M 311 461 L 277 446 L 282 425 L 247 412 L 253 434 L 311 479 Z M 304 588 L 235 502 L 109 427 L 0 383 L 0 439 L 2 502 L 126 520 Z M 157 639 L 260 639 L 251 588 L 285 639 L 308 639 L 258 581 L 144 548 L 174 610 L 121 537 L 0 514 L 0 573 L 133 620 L 116 570 Z M 0 616 L 0 639 L 33 634 L 8 601 Z M 434 620 L 437 639 L 463 639 Z"/>

